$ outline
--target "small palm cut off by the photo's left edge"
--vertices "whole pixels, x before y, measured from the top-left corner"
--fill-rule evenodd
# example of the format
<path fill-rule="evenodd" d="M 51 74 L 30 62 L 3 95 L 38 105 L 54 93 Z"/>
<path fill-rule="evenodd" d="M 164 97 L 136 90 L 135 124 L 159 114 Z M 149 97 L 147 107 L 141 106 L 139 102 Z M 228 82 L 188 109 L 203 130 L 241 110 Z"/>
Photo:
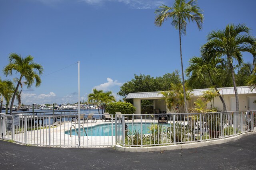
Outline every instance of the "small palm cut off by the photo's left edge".
<path fill-rule="evenodd" d="M 0 113 L 2 113 L 3 101 L 6 100 L 6 104 L 8 105 L 13 96 L 14 90 L 15 87 L 12 81 L 0 79 Z"/>

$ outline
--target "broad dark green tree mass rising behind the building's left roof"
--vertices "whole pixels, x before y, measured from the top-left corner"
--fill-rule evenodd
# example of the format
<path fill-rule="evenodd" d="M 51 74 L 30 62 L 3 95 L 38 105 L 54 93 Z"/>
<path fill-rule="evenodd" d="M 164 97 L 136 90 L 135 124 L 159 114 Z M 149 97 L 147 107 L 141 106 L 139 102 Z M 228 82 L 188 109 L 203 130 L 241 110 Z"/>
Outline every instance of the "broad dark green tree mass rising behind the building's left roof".
<path fill-rule="evenodd" d="M 126 97 L 129 93 L 169 90 L 171 83 L 180 83 L 178 70 L 175 70 L 172 74 L 167 73 L 156 78 L 144 74 L 139 76 L 134 74 L 134 78 L 124 83 L 117 94 Z M 132 100 L 126 100 L 125 98 L 123 100 L 132 103 Z"/>

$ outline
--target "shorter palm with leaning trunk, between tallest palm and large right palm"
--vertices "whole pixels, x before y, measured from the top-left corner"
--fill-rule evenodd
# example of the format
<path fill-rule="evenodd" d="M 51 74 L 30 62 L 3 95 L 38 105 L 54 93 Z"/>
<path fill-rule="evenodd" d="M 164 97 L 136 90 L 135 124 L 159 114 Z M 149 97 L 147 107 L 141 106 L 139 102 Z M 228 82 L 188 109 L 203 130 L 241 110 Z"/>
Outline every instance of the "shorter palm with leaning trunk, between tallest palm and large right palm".
<path fill-rule="evenodd" d="M 218 92 L 218 96 L 223 104 L 224 111 L 227 111 L 226 104 L 220 95 L 217 85 L 214 82 L 220 81 L 220 72 L 223 69 L 224 60 L 221 58 L 209 57 L 209 60 L 204 60 L 202 57 L 192 57 L 189 61 L 189 66 L 186 68 L 186 76 L 188 77 L 188 82 L 196 81 L 206 81 L 210 80 L 210 84 Z M 190 76 L 191 73 L 191 76 Z"/>

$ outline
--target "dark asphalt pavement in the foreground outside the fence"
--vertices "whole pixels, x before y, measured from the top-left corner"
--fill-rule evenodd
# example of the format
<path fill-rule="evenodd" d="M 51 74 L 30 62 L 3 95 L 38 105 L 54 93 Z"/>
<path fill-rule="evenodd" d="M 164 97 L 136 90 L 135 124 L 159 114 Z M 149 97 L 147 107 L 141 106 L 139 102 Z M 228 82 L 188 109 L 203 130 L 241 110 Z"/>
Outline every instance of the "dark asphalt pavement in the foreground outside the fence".
<path fill-rule="evenodd" d="M 6 169 L 256 169 L 256 135 L 234 142 L 162 152 L 120 152 L 112 148 L 50 148 L 0 140 Z"/>

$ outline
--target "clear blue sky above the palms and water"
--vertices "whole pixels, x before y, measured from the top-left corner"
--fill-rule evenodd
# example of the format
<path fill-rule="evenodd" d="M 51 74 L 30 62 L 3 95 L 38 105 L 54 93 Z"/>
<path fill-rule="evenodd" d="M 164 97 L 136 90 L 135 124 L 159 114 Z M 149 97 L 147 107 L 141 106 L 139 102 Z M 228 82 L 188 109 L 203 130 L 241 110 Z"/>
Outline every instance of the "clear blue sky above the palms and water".
<path fill-rule="evenodd" d="M 66 104 L 87 100 L 93 88 L 111 90 L 134 74 L 152 77 L 181 70 L 178 30 L 166 20 L 154 25 L 156 8 L 174 0 L 0 0 L 0 78 L 10 53 L 32 55 L 44 74 L 36 88 L 23 88 L 22 104 Z M 203 29 L 189 23 L 182 36 L 184 68 L 200 56 L 210 31 L 244 23 L 256 36 L 256 0 L 198 0 Z M 244 62 L 252 55 L 244 53 Z M 180 71 L 181 74 L 181 71 Z M 24 81 L 24 80 L 23 80 Z M 14 105 L 17 104 L 16 102 Z"/>

